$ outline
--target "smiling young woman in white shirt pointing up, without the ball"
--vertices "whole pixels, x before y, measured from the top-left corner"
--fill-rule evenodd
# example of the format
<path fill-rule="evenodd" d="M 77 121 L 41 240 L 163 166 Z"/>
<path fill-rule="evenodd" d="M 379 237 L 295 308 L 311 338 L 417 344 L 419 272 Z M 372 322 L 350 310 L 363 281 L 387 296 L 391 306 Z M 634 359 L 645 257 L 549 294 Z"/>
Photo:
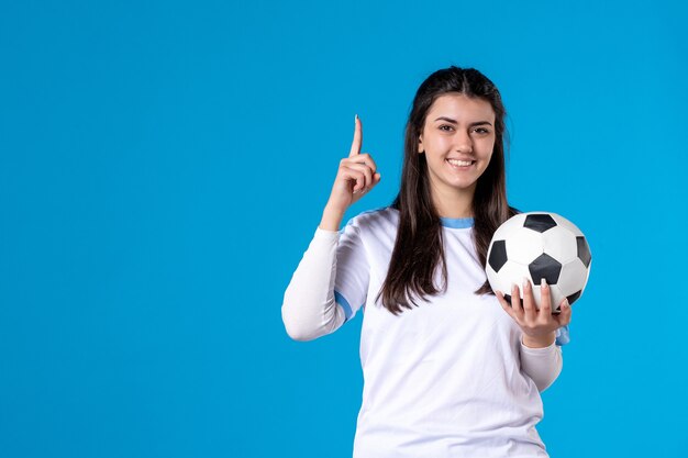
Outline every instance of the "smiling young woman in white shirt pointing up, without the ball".
<path fill-rule="evenodd" d="M 363 311 L 355 458 L 547 457 L 540 392 L 562 370 L 570 306 L 548 288 L 492 291 L 485 273 L 509 206 L 504 108 L 478 70 L 450 67 L 418 89 L 399 194 L 353 217 L 380 181 L 358 116 L 322 221 L 285 293 L 289 336 L 333 333 Z"/>

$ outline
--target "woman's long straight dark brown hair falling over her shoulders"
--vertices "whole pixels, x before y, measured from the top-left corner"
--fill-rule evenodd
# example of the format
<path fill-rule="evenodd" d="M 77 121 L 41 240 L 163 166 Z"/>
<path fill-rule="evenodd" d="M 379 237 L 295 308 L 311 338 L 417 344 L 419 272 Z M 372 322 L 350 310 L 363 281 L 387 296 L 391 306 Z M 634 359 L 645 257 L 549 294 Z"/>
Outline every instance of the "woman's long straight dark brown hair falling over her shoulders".
<path fill-rule="evenodd" d="M 426 295 L 446 291 L 447 268 L 442 224 L 432 203 L 428 163 L 425 155 L 419 154 L 418 139 L 430 107 L 437 97 L 447 92 L 484 99 L 495 110 L 495 149 L 487 169 L 478 178 L 473 198 L 474 242 L 484 268 L 492 234 L 501 223 L 519 212 L 507 202 L 507 112 L 497 87 L 474 68 L 451 66 L 433 72 L 421 83 L 413 99 L 406 126 L 401 188 L 391 204 L 399 210 L 399 227 L 387 278 L 376 300 L 381 295 L 382 304 L 393 314 L 401 313 L 401 308 L 411 309 L 411 304 L 418 306 L 415 300 L 419 298 L 423 300 Z M 442 269 L 441 287 L 433 281 L 439 266 Z M 493 291 L 486 280 L 475 293 L 493 294 Z"/>

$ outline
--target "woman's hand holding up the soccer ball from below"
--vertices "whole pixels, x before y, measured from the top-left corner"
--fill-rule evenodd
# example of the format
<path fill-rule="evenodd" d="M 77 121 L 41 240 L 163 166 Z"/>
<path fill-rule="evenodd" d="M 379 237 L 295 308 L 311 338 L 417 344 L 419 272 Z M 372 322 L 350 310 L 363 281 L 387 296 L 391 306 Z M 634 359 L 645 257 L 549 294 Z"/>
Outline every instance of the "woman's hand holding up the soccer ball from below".
<path fill-rule="evenodd" d="M 546 347 L 554 342 L 555 331 L 570 323 L 572 310 L 568 300 L 561 303 L 561 313 L 552 314 L 552 299 L 550 286 L 542 280 L 540 288 L 540 310 L 535 305 L 533 288 L 528 279 L 523 281 L 523 305 L 519 287 L 511 287 L 511 305 L 504 299 L 501 291 L 495 291 L 501 308 L 507 312 L 523 331 L 523 340 L 526 346 Z M 529 345 L 531 344 L 531 345 Z"/>

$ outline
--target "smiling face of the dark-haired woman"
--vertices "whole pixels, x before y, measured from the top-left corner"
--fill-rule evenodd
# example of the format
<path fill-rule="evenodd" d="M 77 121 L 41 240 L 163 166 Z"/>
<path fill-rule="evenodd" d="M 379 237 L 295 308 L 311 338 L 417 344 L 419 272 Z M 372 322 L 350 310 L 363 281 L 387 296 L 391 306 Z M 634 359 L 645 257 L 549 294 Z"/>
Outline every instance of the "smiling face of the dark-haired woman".
<path fill-rule="evenodd" d="M 440 96 L 428 111 L 418 145 L 425 152 L 433 193 L 473 197 L 495 147 L 492 105 L 458 92 Z"/>

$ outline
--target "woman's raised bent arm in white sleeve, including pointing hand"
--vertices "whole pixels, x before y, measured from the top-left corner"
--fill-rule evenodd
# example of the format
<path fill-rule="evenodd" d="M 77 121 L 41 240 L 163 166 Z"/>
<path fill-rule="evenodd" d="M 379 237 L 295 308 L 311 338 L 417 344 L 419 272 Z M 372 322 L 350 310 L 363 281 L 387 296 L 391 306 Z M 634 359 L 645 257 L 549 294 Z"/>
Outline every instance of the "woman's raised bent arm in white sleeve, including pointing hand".
<path fill-rule="evenodd" d="M 285 292 L 282 321 L 296 340 L 333 333 L 363 306 L 368 266 L 358 227 L 347 224 L 337 231 L 346 210 L 380 182 L 373 157 L 360 154 L 362 143 L 356 116 L 348 157 L 340 161 L 320 226 Z"/>

